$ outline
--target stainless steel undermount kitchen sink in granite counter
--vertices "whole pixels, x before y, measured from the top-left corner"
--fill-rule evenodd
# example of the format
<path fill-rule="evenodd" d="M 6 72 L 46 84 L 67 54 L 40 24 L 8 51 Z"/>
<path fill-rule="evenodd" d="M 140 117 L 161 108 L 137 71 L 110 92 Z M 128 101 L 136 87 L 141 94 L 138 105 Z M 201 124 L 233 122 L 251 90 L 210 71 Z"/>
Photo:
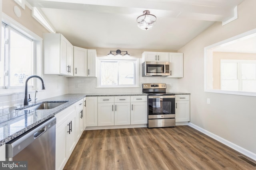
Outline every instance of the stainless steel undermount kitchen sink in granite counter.
<path fill-rule="evenodd" d="M 16 110 L 42 110 L 42 109 L 53 109 L 55 107 L 58 107 L 68 101 L 51 101 L 51 102 L 40 102 L 36 105 L 30 105 L 30 106 L 25 106 L 21 107 Z"/>

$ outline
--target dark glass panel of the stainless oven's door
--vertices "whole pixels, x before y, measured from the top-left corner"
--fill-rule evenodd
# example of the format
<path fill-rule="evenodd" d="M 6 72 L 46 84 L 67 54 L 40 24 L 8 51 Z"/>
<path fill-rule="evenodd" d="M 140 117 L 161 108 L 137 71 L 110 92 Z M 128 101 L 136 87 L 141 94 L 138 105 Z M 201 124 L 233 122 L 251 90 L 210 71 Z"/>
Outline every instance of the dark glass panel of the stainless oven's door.
<path fill-rule="evenodd" d="M 175 114 L 175 99 L 148 99 L 148 115 Z"/>

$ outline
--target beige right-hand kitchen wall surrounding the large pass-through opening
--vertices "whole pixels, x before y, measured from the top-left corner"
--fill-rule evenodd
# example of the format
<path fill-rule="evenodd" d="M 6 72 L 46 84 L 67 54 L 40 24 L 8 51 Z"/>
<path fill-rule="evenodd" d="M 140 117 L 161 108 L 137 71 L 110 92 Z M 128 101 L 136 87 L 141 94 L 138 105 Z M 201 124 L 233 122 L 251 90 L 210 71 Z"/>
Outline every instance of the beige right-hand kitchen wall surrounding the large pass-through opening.
<path fill-rule="evenodd" d="M 190 92 L 191 123 L 248 152 L 256 159 L 256 97 L 204 92 L 204 47 L 256 28 L 256 0 L 238 6 L 238 19 L 216 22 L 178 52 L 184 53 L 180 91 Z M 206 99 L 210 98 L 210 104 Z"/>

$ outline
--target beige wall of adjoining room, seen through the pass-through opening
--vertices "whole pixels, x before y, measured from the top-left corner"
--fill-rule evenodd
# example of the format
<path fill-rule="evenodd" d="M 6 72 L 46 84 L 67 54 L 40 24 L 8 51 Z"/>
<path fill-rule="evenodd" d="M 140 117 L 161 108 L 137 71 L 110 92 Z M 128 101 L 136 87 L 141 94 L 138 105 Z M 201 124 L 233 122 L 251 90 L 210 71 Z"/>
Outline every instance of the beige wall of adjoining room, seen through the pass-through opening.
<path fill-rule="evenodd" d="M 220 60 L 256 60 L 253 53 L 213 52 L 213 89 L 220 89 Z"/>

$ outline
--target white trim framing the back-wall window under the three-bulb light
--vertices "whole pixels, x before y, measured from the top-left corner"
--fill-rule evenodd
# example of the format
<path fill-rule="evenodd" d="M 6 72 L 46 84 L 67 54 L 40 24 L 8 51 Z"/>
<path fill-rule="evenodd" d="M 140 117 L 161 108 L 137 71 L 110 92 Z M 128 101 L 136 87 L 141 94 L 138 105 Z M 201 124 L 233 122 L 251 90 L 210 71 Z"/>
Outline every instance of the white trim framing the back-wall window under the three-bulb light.
<path fill-rule="evenodd" d="M 134 61 L 134 85 L 115 85 L 115 86 L 101 86 L 101 61 Z M 138 88 L 139 87 L 139 59 L 136 57 L 97 57 L 97 88 Z"/>

